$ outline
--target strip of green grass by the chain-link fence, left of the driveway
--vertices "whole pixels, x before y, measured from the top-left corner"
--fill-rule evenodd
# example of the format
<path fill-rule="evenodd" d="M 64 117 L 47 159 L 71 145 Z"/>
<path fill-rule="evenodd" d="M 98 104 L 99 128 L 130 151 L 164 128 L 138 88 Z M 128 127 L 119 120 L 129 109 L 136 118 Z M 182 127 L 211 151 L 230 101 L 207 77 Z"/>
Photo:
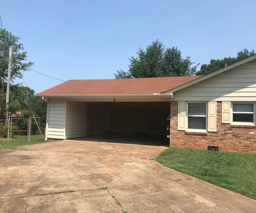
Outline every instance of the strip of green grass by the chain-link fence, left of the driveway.
<path fill-rule="evenodd" d="M 0 141 L 0 150 L 8 149 L 11 147 L 17 147 L 22 145 L 30 145 L 34 143 L 46 143 L 50 141 L 45 141 L 44 136 L 41 135 L 32 135 L 30 136 L 30 142 L 27 142 L 27 136 L 14 136 L 11 140 L 9 140 L 9 144 L 7 144 L 7 140 Z"/>

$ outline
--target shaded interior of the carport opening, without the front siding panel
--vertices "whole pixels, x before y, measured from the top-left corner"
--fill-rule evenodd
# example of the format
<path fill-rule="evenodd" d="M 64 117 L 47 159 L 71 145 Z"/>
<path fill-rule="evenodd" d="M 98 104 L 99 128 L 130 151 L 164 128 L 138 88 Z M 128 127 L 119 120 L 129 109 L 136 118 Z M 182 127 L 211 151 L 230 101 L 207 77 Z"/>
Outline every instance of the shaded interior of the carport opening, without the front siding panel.
<path fill-rule="evenodd" d="M 66 137 L 167 136 L 169 102 L 67 101 Z"/>

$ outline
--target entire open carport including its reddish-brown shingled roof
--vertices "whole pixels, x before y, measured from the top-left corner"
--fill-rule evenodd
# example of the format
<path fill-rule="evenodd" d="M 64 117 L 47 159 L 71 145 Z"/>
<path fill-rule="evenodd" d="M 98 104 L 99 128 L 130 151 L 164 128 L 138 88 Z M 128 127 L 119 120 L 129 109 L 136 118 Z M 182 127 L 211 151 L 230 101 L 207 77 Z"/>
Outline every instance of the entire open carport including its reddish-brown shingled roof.
<path fill-rule="evenodd" d="M 48 102 L 45 140 L 98 135 L 167 138 L 172 94 L 196 76 L 70 80 L 36 96 Z"/>

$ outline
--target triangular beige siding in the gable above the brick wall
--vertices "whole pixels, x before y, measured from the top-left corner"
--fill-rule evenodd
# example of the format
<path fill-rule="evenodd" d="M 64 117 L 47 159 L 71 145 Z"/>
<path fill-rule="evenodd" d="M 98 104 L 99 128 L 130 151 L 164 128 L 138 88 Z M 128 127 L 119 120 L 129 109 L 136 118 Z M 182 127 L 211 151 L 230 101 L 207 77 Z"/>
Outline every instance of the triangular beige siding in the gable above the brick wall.
<path fill-rule="evenodd" d="M 256 63 L 247 63 L 174 93 L 174 101 L 256 101 Z"/>

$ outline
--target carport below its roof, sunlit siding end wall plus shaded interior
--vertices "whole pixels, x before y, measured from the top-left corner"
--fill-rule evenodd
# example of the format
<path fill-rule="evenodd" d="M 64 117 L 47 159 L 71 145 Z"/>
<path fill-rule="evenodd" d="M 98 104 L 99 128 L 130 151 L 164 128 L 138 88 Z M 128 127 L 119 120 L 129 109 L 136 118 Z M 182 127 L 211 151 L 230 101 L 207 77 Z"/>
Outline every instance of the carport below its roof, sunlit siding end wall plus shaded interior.
<path fill-rule="evenodd" d="M 166 138 L 168 134 L 169 102 L 49 99 L 48 105 L 47 138 L 99 135 Z"/>

